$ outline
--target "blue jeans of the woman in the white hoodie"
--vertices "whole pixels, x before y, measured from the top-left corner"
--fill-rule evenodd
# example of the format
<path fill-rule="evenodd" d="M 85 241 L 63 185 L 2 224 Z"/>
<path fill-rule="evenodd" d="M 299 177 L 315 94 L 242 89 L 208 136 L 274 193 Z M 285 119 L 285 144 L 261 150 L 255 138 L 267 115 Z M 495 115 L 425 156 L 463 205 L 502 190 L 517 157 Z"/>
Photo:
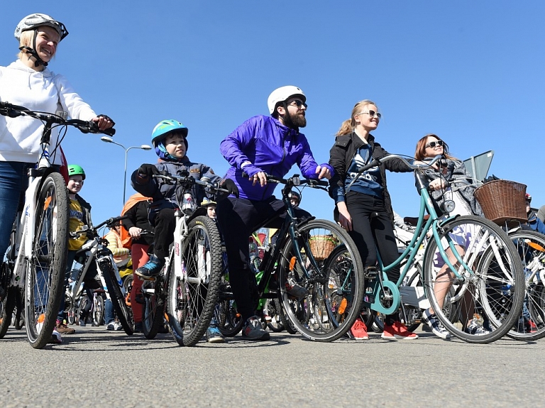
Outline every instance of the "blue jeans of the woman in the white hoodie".
<path fill-rule="evenodd" d="M 26 170 L 34 163 L 0 162 L 0 256 L 4 259 L 9 246 L 9 236 L 17 215 L 19 203 L 23 203 L 28 187 Z"/>

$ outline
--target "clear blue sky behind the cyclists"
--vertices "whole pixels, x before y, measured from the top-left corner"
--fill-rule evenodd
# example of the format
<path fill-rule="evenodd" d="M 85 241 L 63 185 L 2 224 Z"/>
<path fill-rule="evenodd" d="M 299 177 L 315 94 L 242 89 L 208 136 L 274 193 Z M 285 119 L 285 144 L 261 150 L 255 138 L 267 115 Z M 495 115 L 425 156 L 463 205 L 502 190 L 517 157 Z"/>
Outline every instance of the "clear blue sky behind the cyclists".
<path fill-rule="evenodd" d="M 15 4 L 0 13 L 0 65 L 15 59 L 13 30 L 23 16 L 62 21 L 70 35 L 50 69 L 114 118 L 114 140 L 126 148 L 149 144 L 155 124 L 175 118 L 189 128 L 189 158 L 223 175 L 221 140 L 247 118 L 268 114 L 268 94 L 293 84 L 307 94 L 303 132 L 318 162 L 329 160 L 353 105 L 372 99 L 383 115 L 374 135 L 390 153 L 414 154 L 426 133 L 446 140 L 458 158 L 494 150 L 490 174 L 527 184 L 533 206 L 545 204 L 542 1 Z M 123 149 L 75 130 L 63 148 L 87 172 L 82 196 L 94 222 L 119 214 Z M 130 150 L 128 174 L 155 160 L 153 151 Z M 388 187 L 399 214 L 417 214 L 411 174 L 390 173 Z M 302 206 L 332 218 L 325 192 L 304 190 Z"/>

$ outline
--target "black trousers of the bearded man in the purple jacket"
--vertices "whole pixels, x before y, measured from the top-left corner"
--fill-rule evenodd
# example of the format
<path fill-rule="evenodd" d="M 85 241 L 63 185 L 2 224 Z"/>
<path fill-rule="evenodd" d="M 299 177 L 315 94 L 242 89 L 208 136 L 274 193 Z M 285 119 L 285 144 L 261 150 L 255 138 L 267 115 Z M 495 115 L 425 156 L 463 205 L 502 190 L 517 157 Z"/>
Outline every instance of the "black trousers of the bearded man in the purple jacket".
<path fill-rule="evenodd" d="M 287 215 L 282 200 L 274 196 L 264 201 L 228 197 L 218 203 L 216 214 L 224 237 L 229 281 L 238 312 L 243 321 L 255 314 L 255 276 L 248 265 L 248 238 L 261 227 L 280 228 Z M 276 216 L 272 222 L 267 222 Z M 309 217 L 302 209 L 295 209 L 297 218 Z"/>

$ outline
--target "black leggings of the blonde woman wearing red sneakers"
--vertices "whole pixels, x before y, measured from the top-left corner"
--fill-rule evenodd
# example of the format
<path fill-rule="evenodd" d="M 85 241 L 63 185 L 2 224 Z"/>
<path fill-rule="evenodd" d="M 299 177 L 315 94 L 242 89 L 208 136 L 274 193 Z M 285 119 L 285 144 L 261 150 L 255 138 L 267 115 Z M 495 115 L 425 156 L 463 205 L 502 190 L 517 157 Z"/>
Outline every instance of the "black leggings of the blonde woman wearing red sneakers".
<path fill-rule="evenodd" d="M 384 201 L 359 192 L 346 194 L 346 206 L 352 217 L 350 236 L 360 251 L 365 267 L 377 264 L 377 246 L 383 265 L 390 265 L 399 257 L 395 242 L 394 227 L 387 213 Z M 400 267 L 397 265 L 387 271 L 388 280 L 397 283 Z M 386 316 L 386 324 L 399 320 L 397 313 Z"/>

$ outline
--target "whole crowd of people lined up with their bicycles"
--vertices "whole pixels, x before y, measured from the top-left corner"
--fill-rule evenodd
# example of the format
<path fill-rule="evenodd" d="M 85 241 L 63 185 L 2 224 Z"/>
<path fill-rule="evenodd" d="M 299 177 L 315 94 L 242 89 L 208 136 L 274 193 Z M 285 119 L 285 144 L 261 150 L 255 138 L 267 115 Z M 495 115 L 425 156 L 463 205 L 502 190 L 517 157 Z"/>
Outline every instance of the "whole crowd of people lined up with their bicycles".
<path fill-rule="evenodd" d="M 34 13 L 23 18 L 15 31 L 20 50 L 18 60 L 7 67 L 0 67 L 0 101 L 37 111 L 65 111 L 72 118 L 94 121 L 101 130 L 111 128 L 114 121 L 109 116 L 95 114 L 65 77 L 55 75 L 48 69 L 50 60 L 57 52 L 57 45 L 67 35 L 67 28 L 62 23 L 45 14 Z M 175 210 L 189 199 L 206 207 L 208 216 L 216 219 L 221 231 L 231 289 L 243 321 L 242 337 L 252 341 L 270 338 L 270 332 L 262 324 L 263 316 L 256 311 L 252 288 L 255 278 L 249 266 L 248 237 L 260 228 L 278 228 L 282 224 L 286 216 L 285 204 L 273 195 L 276 184 L 268 183 L 266 176 L 285 177 L 293 165 L 299 167 L 304 178 L 329 180 L 334 220 L 353 238 L 365 268 L 375 268 L 377 250 L 385 264 L 397 258 L 399 253 L 392 222 L 394 212 L 387 191 L 386 170 L 412 170 L 401 160 L 390 160 L 365 172 L 358 171 L 373 159 L 388 155 L 371 134 L 380 123 L 377 104 L 368 99 L 355 104 L 351 117 L 341 124 L 336 133 L 329 161 L 321 164 L 314 158 L 309 140 L 301 133 L 301 129 L 307 125 L 307 97 L 302 89 L 294 86 L 277 88 L 269 95 L 267 104 L 268 115 L 249 118 L 221 141 L 219 150 L 230 165 L 224 177 L 216 175 L 211 167 L 199 160 L 188 158 L 189 129 L 182 122 L 167 119 L 153 128 L 151 142 L 158 160 L 144 163 L 132 173 L 131 184 L 138 194 L 131 196 L 125 204 L 122 215 L 126 218 L 122 224 L 106 237 L 116 261 L 125 260 L 130 249 L 134 270 L 130 297 L 136 333 L 142 331 L 140 288 L 145 280 L 153 280 L 161 273 L 175 230 Z M 35 165 L 37 159 L 41 126 L 40 121 L 28 118 L 0 116 L 1 254 L 6 253 L 9 246 L 13 221 L 27 187 L 26 171 Z M 55 137 L 52 145 L 57 145 Z M 426 135 L 416 145 L 415 157 L 421 162 L 436 155 L 444 157 L 443 161 L 426 171 L 431 196 L 436 199 L 439 208 L 441 193 L 448 189 L 448 183 L 470 177 L 463 162 L 449 153 L 447 143 L 439 136 Z M 79 165 L 66 165 L 60 148 L 55 150 L 53 162 L 67 168 L 70 231 L 92 225 L 91 205 L 80 195 L 86 177 L 84 170 Z M 198 184 L 194 184 L 192 191 L 188 192 L 153 177 L 161 172 L 174 175 L 188 172 L 195 180 L 205 177 L 217 182 L 226 192 L 207 197 Z M 349 192 L 348 186 L 351 187 Z M 473 197 L 474 189 L 468 183 L 457 190 L 458 194 L 453 194 L 457 200 L 456 214 L 483 214 Z M 275 214 L 275 221 L 265 224 Z M 299 206 L 294 206 L 294 214 L 302 220 L 312 216 Z M 539 225 L 535 214 L 531 215 L 532 223 Z M 82 248 L 86 239 L 84 234 L 69 239 L 65 283 L 69 280 L 77 250 Z M 446 267 L 444 273 L 448 274 Z M 92 271 L 86 280 L 90 290 L 95 289 L 95 274 L 96 271 Z M 390 269 L 387 277 L 395 282 L 400 277 L 400 269 Z M 286 290 L 294 297 L 306 296 L 304 287 L 295 281 L 286 282 Z M 446 293 L 448 287 L 436 287 L 436 291 Z M 106 328 L 119 329 L 107 305 L 106 311 Z M 88 310 L 85 312 L 88 313 Z M 79 317 L 79 324 L 85 326 L 87 316 Z M 75 333 L 75 329 L 67 326 L 65 319 L 62 302 L 53 331 L 53 343 L 60 343 L 61 336 Z M 422 319 L 437 336 L 449 337 L 433 309 L 425 310 Z M 207 330 L 210 342 L 224 341 L 216 325 L 217 322 L 213 320 Z M 466 330 L 485 332 L 487 329 L 468 321 Z M 351 335 L 361 340 L 368 338 L 368 328 L 362 319 L 358 318 L 353 324 Z M 412 340 L 418 336 L 407 330 L 398 314 L 390 314 L 384 318 L 382 338 Z"/>

